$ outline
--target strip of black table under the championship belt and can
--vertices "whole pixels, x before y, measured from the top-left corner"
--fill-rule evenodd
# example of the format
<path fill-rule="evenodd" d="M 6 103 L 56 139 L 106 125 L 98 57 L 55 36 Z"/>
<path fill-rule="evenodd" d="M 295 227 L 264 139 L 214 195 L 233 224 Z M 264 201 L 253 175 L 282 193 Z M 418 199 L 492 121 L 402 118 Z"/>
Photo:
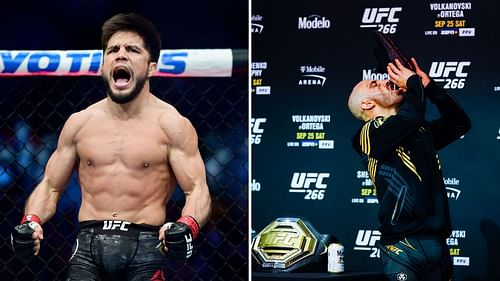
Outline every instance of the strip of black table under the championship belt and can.
<path fill-rule="evenodd" d="M 342 272 L 342 273 L 264 273 L 252 272 L 252 281 L 289 281 L 289 280 L 334 280 L 334 281 L 387 281 L 381 272 Z"/>

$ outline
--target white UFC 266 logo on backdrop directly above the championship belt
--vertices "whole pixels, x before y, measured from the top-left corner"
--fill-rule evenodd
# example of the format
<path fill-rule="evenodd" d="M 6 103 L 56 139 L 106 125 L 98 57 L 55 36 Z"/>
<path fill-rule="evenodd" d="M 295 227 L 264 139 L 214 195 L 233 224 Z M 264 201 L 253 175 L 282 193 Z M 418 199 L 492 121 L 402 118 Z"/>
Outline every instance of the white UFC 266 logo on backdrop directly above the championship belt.
<path fill-rule="evenodd" d="M 323 200 L 330 173 L 293 173 L 289 192 L 305 193 L 304 200 Z"/>

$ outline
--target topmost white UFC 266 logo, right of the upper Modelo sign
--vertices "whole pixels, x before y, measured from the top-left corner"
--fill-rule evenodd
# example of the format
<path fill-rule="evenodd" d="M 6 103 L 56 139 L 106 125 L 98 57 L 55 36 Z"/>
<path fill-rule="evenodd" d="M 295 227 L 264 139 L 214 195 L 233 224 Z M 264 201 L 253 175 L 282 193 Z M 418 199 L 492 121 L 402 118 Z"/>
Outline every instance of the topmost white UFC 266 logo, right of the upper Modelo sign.
<path fill-rule="evenodd" d="M 359 27 L 375 27 L 384 34 L 396 33 L 397 23 L 399 22 L 397 13 L 400 13 L 402 10 L 402 7 L 365 8 Z"/>

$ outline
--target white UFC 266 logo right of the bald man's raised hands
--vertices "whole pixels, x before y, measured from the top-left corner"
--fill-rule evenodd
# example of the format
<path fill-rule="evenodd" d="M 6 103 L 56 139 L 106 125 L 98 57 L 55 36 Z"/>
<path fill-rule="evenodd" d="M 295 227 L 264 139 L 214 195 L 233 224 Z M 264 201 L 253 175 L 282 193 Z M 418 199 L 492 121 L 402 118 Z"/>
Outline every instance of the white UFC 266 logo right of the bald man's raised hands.
<path fill-rule="evenodd" d="M 445 89 L 463 89 L 470 61 L 435 61 L 431 64 L 429 76 L 436 82 L 444 82 Z"/>

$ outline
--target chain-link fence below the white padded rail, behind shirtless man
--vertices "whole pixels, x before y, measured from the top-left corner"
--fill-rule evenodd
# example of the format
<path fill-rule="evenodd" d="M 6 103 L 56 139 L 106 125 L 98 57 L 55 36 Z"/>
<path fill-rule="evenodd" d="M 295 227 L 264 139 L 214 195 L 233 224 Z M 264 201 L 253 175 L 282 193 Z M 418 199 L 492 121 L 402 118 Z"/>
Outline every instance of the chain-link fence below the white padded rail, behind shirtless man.
<path fill-rule="evenodd" d="M 191 120 L 199 136 L 212 214 L 187 262 L 166 260 L 168 280 L 248 280 L 248 79 L 152 78 L 152 92 Z M 54 217 L 44 224 L 40 256 L 25 265 L 10 233 L 41 180 L 71 115 L 105 97 L 99 77 L 0 78 L 0 280 L 64 280 L 78 231 L 81 195 L 72 176 Z M 179 188 L 168 220 L 181 213 Z"/>

